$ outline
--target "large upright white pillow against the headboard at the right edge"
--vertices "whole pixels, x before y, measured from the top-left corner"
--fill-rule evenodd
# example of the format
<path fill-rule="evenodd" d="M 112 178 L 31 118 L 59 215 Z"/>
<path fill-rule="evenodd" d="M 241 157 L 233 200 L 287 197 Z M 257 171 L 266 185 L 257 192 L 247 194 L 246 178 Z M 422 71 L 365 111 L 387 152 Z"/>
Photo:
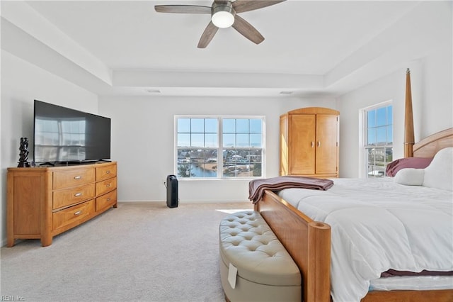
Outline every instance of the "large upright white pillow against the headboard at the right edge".
<path fill-rule="evenodd" d="M 437 152 L 425 168 L 423 186 L 453 191 L 453 147 Z"/>

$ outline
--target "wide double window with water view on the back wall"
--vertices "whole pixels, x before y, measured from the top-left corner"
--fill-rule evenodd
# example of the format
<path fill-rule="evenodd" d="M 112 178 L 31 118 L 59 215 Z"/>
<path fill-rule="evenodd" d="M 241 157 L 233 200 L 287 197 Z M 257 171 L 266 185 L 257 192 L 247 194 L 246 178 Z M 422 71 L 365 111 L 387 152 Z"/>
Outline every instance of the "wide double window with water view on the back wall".
<path fill-rule="evenodd" d="M 176 117 L 180 178 L 263 177 L 264 118 Z"/>

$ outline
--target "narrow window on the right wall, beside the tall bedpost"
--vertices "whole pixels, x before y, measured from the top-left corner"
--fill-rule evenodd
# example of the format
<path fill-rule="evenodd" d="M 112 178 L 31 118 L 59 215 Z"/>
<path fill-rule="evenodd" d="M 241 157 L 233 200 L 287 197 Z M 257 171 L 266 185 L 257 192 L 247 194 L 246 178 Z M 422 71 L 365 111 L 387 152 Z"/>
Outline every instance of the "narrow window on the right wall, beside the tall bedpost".
<path fill-rule="evenodd" d="M 365 109 L 366 177 L 384 177 L 393 158 L 393 110 L 391 104 Z"/>

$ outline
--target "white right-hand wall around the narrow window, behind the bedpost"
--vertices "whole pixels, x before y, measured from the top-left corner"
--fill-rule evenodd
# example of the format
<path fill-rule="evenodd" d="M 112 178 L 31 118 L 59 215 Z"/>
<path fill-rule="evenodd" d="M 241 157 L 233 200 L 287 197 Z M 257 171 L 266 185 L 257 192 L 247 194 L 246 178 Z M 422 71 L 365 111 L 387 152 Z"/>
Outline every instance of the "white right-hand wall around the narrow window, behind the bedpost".
<path fill-rule="evenodd" d="M 453 127 L 452 39 L 426 57 L 409 62 L 415 142 Z M 360 177 L 359 111 L 391 100 L 394 106 L 394 159 L 403 157 L 406 69 L 398 70 L 338 99 L 340 111 L 340 177 Z"/>

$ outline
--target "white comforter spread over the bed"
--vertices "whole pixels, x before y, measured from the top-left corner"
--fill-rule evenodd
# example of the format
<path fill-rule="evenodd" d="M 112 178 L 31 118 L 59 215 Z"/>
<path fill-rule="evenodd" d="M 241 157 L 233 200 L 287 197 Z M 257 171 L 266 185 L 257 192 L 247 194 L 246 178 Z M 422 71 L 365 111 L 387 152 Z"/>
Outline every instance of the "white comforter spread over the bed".
<path fill-rule="evenodd" d="M 279 196 L 331 225 L 333 301 L 360 301 L 388 269 L 453 270 L 453 194 L 392 179 L 333 179 L 328 191 Z"/>

